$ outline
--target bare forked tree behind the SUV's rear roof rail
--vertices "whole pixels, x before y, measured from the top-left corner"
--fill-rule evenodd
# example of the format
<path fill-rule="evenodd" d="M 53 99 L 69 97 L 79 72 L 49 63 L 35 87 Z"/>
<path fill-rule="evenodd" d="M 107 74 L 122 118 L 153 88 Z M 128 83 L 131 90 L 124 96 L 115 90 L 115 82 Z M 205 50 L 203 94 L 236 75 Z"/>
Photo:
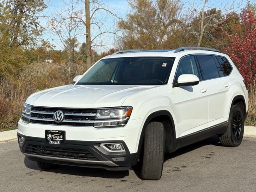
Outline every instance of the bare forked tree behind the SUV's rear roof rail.
<path fill-rule="evenodd" d="M 197 3 L 196 3 L 197 2 Z M 226 4 L 222 7 L 222 9 L 219 9 L 218 11 L 211 12 L 207 10 L 211 10 L 214 5 L 210 5 L 209 0 L 200 0 L 199 2 L 194 0 L 191 4 L 190 1 L 188 1 L 190 4 L 190 7 L 192 8 L 192 12 L 198 17 L 199 19 L 199 32 L 197 34 L 198 36 L 198 44 L 197 46 L 200 47 L 202 44 L 202 39 L 204 35 L 210 34 L 206 29 L 207 28 L 214 28 L 218 27 L 220 24 L 225 22 L 229 17 L 222 18 L 220 20 L 216 20 L 216 17 L 218 17 L 220 14 L 227 14 L 228 12 L 232 12 L 236 8 L 239 8 L 241 4 L 235 5 L 235 1 L 226 1 Z M 215 8 L 216 10 L 216 8 Z"/>

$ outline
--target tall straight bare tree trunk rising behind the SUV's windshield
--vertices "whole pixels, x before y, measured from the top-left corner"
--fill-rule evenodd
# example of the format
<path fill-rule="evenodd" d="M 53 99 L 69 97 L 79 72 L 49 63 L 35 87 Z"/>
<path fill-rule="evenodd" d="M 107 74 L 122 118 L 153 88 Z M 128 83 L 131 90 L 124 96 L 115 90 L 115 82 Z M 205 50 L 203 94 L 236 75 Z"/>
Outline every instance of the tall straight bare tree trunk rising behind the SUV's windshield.
<path fill-rule="evenodd" d="M 90 0 L 85 0 L 85 22 L 86 22 L 86 70 L 92 65 L 91 56 L 91 21 L 90 21 Z"/>

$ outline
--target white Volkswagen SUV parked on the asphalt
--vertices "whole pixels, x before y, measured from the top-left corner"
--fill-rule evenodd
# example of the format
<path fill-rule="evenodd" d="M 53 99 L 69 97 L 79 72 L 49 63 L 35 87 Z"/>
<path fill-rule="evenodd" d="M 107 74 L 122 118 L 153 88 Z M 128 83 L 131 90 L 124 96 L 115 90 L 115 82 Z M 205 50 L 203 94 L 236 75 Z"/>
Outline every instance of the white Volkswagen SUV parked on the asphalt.
<path fill-rule="evenodd" d="M 248 110 L 244 79 L 218 50 L 123 50 L 74 84 L 32 94 L 18 122 L 21 152 L 54 164 L 139 168 L 158 180 L 164 154 L 218 135 L 238 146 Z"/>

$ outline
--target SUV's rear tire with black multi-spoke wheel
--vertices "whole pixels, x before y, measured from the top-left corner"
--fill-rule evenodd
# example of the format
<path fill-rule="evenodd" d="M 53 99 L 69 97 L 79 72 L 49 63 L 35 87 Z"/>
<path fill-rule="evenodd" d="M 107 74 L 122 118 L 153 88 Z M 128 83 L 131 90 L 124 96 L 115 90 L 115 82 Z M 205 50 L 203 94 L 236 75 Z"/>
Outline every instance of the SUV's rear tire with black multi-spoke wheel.
<path fill-rule="evenodd" d="M 220 143 L 226 147 L 237 147 L 244 136 L 244 115 L 242 109 L 234 105 L 228 118 L 228 127 L 224 134 L 219 136 Z"/>

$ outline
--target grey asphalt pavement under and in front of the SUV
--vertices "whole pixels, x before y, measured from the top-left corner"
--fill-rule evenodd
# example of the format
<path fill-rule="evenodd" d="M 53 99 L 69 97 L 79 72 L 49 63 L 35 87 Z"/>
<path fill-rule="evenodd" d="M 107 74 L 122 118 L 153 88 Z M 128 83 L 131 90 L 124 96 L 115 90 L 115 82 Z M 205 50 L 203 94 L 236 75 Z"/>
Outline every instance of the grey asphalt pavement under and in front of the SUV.
<path fill-rule="evenodd" d="M 42 171 L 19 150 L 0 143 L 0 192 L 256 192 L 256 138 L 236 148 L 213 137 L 166 155 L 162 178 L 140 180 L 134 170 L 58 166 Z"/>

